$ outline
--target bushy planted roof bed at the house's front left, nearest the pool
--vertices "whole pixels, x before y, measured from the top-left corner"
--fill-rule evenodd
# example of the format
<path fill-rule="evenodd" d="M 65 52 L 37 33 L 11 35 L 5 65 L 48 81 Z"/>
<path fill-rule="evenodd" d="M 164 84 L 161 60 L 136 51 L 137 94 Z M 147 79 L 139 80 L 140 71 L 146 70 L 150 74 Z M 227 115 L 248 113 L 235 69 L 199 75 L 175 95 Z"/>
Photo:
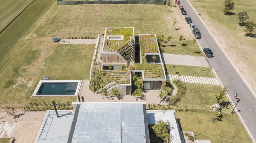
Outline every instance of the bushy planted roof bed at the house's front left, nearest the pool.
<path fill-rule="evenodd" d="M 126 73 L 126 74 L 114 74 L 114 73 Z M 116 85 L 119 84 L 129 84 L 130 74 L 127 70 L 118 70 L 118 71 L 108 71 L 108 70 L 99 70 L 96 69 L 92 72 L 93 77 L 90 81 L 90 89 L 92 91 L 97 91 L 100 88 L 104 87 L 108 83 L 115 81 Z"/>

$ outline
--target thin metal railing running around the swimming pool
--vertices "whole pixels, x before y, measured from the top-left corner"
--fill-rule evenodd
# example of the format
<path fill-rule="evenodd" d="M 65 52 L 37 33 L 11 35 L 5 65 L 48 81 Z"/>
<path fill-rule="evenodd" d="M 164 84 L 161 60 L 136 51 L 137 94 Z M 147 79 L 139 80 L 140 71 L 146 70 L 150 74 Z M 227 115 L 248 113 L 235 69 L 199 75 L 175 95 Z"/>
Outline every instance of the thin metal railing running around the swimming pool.
<path fill-rule="evenodd" d="M 30 95 L 32 96 L 34 93 L 35 93 L 35 89 L 36 89 L 36 87 L 38 86 L 38 84 L 39 84 L 39 82 L 40 82 L 40 80 L 43 80 L 44 79 L 44 77 L 39 77 L 37 80 L 36 80 L 36 83 L 35 83 L 35 85 L 34 85 L 34 87 L 32 88 L 32 90 L 31 90 L 31 92 L 30 92 Z M 80 80 L 80 84 L 79 84 L 79 87 L 78 87 L 78 91 L 75 93 L 75 94 L 77 94 L 77 96 L 79 96 L 79 91 L 80 91 L 80 87 L 81 87 L 81 85 L 82 85 L 82 77 L 49 77 L 49 79 L 48 80 Z M 36 93 L 37 95 L 40 95 L 40 93 Z M 51 94 L 51 95 L 60 95 L 59 93 L 55 93 L 55 92 L 53 92 L 53 93 L 51 93 L 51 92 L 49 92 L 49 94 Z M 44 95 L 43 93 L 41 93 L 41 95 Z M 72 95 L 72 94 L 61 94 L 61 95 Z M 47 96 L 47 95 L 45 95 L 45 96 Z M 50 96 L 50 95 L 48 95 L 48 96 Z M 73 96 L 73 95 L 72 95 Z M 76 95 L 75 95 L 76 96 Z"/>

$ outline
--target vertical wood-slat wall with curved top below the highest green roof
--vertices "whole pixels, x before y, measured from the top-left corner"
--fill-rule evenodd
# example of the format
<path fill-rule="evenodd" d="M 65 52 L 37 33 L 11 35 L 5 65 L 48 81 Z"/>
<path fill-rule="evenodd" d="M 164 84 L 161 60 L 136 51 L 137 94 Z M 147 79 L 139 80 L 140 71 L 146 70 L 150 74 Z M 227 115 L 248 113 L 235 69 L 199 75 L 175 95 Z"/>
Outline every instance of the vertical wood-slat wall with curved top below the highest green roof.
<path fill-rule="evenodd" d="M 117 52 L 101 52 L 102 63 L 127 63 Z"/>

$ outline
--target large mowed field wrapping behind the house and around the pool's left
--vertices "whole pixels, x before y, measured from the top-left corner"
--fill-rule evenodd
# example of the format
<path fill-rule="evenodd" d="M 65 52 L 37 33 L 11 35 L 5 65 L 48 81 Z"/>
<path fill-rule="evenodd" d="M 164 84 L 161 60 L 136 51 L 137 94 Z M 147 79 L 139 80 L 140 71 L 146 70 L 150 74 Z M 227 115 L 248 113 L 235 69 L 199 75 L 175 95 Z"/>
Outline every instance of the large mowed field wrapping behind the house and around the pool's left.
<path fill-rule="evenodd" d="M 95 45 L 61 45 L 54 43 L 53 37 L 96 37 L 104 33 L 106 27 L 134 27 L 135 35 L 155 33 L 179 38 L 182 34 L 192 40 L 193 36 L 177 8 L 167 10 L 163 5 L 57 6 L 50 0 L 34 1 L 0 35 L 0 72 L 4 70 L 0 76 L 3 97 L 0 107 L 76 100 L 76 97 L 30 95 L 38 77 L 82 77 L 89 80 Z M 170 23 L 174 18 L 180 19 L 175 26 L 179 30 L 172 30 Z"/>

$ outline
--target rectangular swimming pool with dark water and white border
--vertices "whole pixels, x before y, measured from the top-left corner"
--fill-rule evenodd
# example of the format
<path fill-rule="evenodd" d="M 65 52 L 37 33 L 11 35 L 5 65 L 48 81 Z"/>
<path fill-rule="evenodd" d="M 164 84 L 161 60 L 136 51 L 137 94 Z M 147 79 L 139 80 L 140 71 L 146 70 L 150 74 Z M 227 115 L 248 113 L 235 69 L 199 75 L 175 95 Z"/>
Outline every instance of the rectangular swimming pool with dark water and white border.
<path fill-rule="evenodd" d="M 32 96 L 77 96 L 81 80 L 40 80 Z"/>

